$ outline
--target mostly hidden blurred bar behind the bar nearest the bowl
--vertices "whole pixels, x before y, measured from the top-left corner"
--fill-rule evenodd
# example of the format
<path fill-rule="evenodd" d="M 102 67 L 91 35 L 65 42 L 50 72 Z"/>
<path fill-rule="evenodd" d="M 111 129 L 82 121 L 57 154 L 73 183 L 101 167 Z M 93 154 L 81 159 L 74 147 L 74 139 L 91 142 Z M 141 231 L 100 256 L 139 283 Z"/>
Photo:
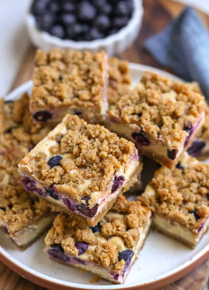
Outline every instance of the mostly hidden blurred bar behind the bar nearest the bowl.
<path fill-rule="evenodd" d="M 116 57 L 109 58 L 109 86 L 107 100 L 109 109 L 113 109 L 120 97 L 131 89 L 129 62 Z"/>

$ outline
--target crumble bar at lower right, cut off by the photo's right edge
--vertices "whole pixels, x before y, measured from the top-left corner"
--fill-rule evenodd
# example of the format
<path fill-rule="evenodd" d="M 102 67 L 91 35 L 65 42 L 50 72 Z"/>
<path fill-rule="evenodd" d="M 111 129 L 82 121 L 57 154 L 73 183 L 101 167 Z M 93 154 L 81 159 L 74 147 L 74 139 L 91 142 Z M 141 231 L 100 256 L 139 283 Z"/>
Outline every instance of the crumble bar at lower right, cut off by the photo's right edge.
<path fill-rule="evenodd" d="M 139 197 L 153 226 L 194 248 L 209 224 L 209 165 L 184 152 L 173 170 L 162 166 Z"/>

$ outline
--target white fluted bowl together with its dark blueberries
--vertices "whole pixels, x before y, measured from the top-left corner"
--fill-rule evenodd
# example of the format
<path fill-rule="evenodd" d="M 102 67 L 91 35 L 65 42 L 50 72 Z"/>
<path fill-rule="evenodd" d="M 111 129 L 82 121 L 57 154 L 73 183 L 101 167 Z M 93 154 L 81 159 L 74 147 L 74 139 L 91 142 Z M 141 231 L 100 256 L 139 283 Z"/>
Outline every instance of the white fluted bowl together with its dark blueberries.
<path fill-rule="evenodd" d="M 26 25 L 32 43 L 44 50 L 117 55 L 137 37 L 142 17 L 142 0 L 34 0 Z"/>

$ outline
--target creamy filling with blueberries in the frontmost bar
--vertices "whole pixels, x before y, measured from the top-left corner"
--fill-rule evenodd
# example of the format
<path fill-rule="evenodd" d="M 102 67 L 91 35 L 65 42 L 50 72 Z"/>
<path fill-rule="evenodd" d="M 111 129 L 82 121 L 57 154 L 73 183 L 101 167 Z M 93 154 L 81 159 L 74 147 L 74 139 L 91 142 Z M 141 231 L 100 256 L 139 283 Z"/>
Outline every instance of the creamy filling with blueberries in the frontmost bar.
<path fill-rule="evenodd" d="M 109 239 L 105 239 L 104 237 L 100 235 L 99 232 L 95 233 L 101 242 L 106 242 L 107 240 L 109 240 L 111 243 L 120 247 L 122 251 L 119 253 L 119 260 L 122 259 L 122 257 L 126 257 L 126 258 L 128 257 L 127 260 L 125 261 L 124 269 L 122 273 L 120 274 L 116 272 L 112 272 L 110 269 L 106 269 L 93 262 L 89 262 L 88 260 L 89 255 L 87 254 L 86 251 L 88 248 L 94 250 L 96 248 L 96 245 L 88 245 L 83 242 L 80 242 L 80 243 L 78 242 L 75 244 L 75 246 L 78 247 L 79 251 L 81 249 L 81 254 L 79 255 L 78 253 L 78 257 L 74 257 L 72 255 L 68 255 L 67 253 L 65 253 L 60 244 L 53 244 L 50 248 L 47 249 L 49 258 L 58 262 L 62 262 L 66 264 L 73 264 L 75 267 L 79 267 L 87 271 L 91 271 L 99 275 L 100 277 L 104 278 L 105 280 L 109 280 L 113 283 L 121 284 L 125 281 L 132 264 L 134 263 L 135 259 L 138 257 L 138 253 L 140 249 L 142 248 L 142 245 L 144 243 L 144 240 L 147 236 L 147 233 L 151 225 L 150 216 L 151 216 L 151 213 L 149 213 L 149 217 L 146 224 L 143 227 L 140 227 L 138 229 L 139 238 L 134 248 L 126 247 L 123 239 L 118 236 L 112 236 Z M 84 253 L 82 253 L 83 251 Z"/>

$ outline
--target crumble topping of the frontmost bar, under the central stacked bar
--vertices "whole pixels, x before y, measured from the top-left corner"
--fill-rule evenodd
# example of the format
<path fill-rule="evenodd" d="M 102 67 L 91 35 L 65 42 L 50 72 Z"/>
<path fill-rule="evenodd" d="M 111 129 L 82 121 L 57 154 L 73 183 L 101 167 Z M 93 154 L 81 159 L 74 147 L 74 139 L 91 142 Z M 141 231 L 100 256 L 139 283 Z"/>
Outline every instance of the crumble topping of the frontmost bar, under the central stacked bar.
<path fill-rule="evenodd" d="M 126 211 L 124 211 L 124 207 L 126 207 Z M 121 212 L 123 214 L 120 214 Z M 47 233 L 46 248 L 48 249 L 54 243 L 61 244 L 66 253 L 77 257 L 78 250 L 75 243 L 86 242 L 88 245 L 94 246 L 87 249 L 87 260 L 101 264 L 105 268 L 111 267 L 120 273 L 125 262 L 124 260 L 118 261 L 118 254 L 123 249 L 119 244 L 116 245 L 108 239 L 117 236 L 119 239 L 122 238 L 127 247 L 134 248 L 139 238 L 139 228 L 146 225 L 150 212 L 148 208 L 141 206 L 139 201 L 129 202 L 123 195 L 120 195 L 115 206 L 99 222 L 100 233 L 93 233 L 85 222 L 60 213 Z M 134 222 L 134 227 L 130 228 L 130 224 L 127 224 L 127 216 L 130 216 L 129 220 L 131 218 L 138 220 L 138 225 Z"/>

